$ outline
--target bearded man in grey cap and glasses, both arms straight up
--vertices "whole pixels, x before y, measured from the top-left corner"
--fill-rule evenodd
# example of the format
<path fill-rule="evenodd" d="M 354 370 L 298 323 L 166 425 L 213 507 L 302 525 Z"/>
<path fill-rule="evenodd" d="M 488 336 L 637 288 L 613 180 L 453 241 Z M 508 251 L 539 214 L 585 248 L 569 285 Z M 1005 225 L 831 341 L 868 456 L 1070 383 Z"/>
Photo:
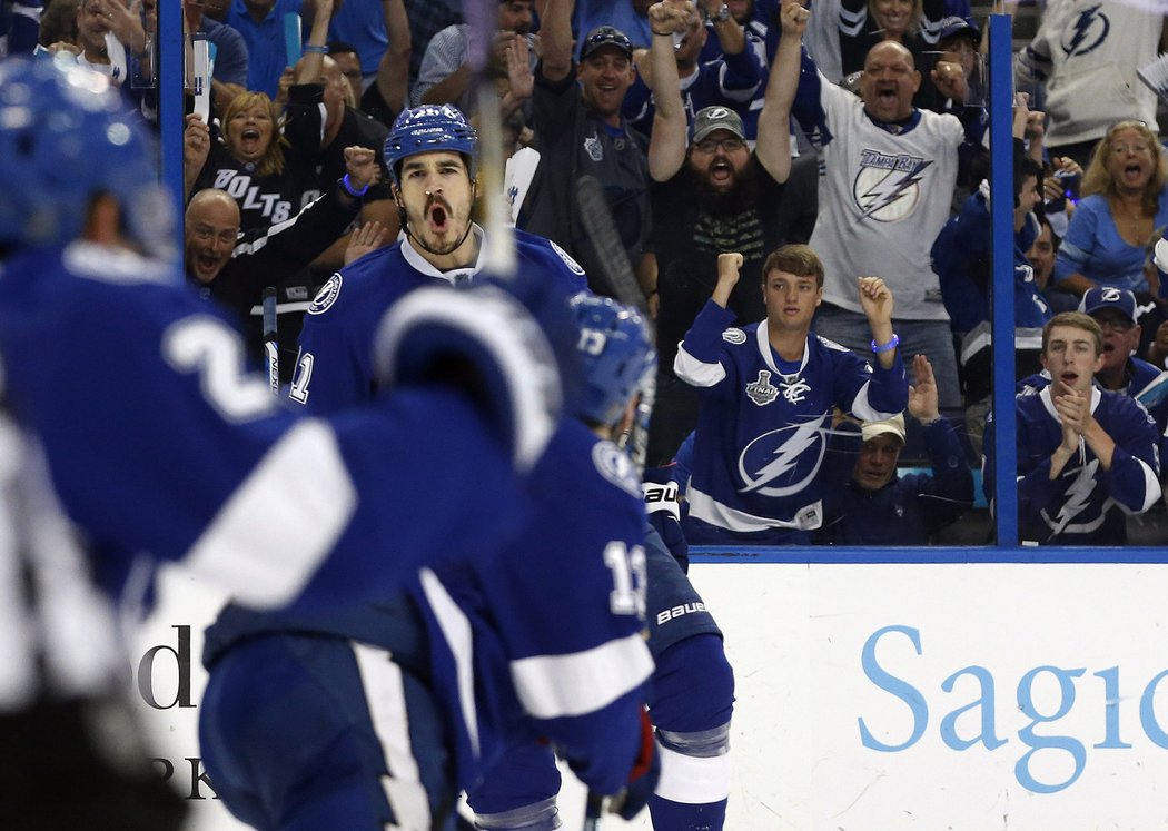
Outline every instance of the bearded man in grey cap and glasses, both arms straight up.
<path fill-rule="evenodd" d="M 670 39 L 672 32 L 684 30 L 684 13 L 659 2 L 649 8 L 649 20 L 658 104 L 649 141 L 654 223 L 642 283 L 656 312 L 661 355 L 648 446 L 655 464 L 672 458 L 697 424 L 697 393 L 677 380 L 673 360 L 714 290 L 718 255 L 743 255 L 744 279 L 731 292 L 729 309 L 743 324 L 762 320 L 763 261 L 784 243 L 811 238 L 818 200 L 814 157 L 792 164 L 791 105 L 777 97 L 777 84 L 767 85 L 755 150 L 744 140 L 742 118 L 726 106 L 698 110 L 687 133 Z M 773 67 L 784 60 L 798 64 L 797 39 L 787 39 L 786 49 L 780 43 Z"/>

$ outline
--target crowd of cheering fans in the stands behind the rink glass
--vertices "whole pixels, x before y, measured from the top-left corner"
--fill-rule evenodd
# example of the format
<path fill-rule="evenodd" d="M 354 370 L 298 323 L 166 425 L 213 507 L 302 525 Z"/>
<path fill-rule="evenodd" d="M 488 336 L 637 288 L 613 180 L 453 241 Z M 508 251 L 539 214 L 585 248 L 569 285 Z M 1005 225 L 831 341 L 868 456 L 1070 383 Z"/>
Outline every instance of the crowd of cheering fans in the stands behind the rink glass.
<path fill-rule="evenodd" d="M 107 74 L 151 118 L 155 2 L 13 0 L 2 50 Z M 1122 542 L 1127 514 L 1162 510 L 1156 489 L 1132 496 L 1159 480 L 1168 421 L 1155 389 L 1168 355 L 1157 268 L 1168 244 L 1156 244 L 1168 227 L 1168 160 L 1155 94 L 1136 79 L 1162 22 L 1117 0 L 1048 0 L 1015 56 L 1016 378 L 1020 396 L 1043 402 L 1018 406 L 1054 424 L 1020 430 L 1023 528 L 1036 542 Z M 474 123 L 472 63 L 482 51 L 503 157 L 515 158 L 516 224 L 578 262 L 595 292 L 616 295 L 619 276 L 577 199 L 583 176 L 602 186 L 655 320 L 648 460 L 676 459 L 679 477 L 701 471 L 698 498 L 717 505 L 702 539 L 757 541 L 734 529 L 786 532 L 798 514 L 818 542 L 924 543 L 980 497 L 967 475 L 987 452 L 993 465 L 987 44 L 967 0 L 816 0 L 809 11 L 792 0 L 502 0 L 494 32 L 472 27 L 457 0 L 183 0 L 183 23 L 211 54 L 209 113 L 188 108 L 183 143 L 187 271 L 238 312 L 257 354 L 260 292 L 277 289 L 285 383 L 317 290 L 401 230 L 382 155 L 395 118 L 450 104 Z M 769 258 L 800 245 L 806 254 Z M 725 286 L 719 257 L 729 254 L 739 255 L 742 279 Z M 809 279 L 814 300 L 800 335 L 809 340 L 790 355 L 776 333 L 791 321 L 769 299 L 773 262 L 804 263 L 794 276 Z M 889 333 L 877 333 L 857 295 L 857 279 L 871 276 L 888 292 Z M 719 312 L 703 312 L 711 297 Z M 737 390 L 752 401 L 745 415 L 709 393 L 701 361 L 684 366 L 697 359 L 679 346 L 703 313 L 730 345 L 753 340 L 744 330 L 758 324 L 758 348 L 773 351 L 770 368 L 744 380 L 753 389 Z M 710 332 L 701 334 L 717 340 Z M 776 397 L 802 402 L 816 335 L 877 367 L 895 354 L 908 422 L 877 418 L 867 387 L 834 388 L 827 411 L 799 416 L 819 425 L 815 441 L 802 422 L 769 422 Z M 716 363 L 717 346 L 695 348 Z M 1099 366 L 1089 354 L 1089 371 L 1065 369 L 1076 346 Z M 1098 403 L 1112 394 L 1147 404 L 1150 452 L 1128 436 L 1099 437 L 1106 425 L 1091 414 L 1112 413 Z M 1125 410 L 1113 429 L 1138 420 Z M 758 459 L 756 439 L 784 430 Z M 1024 444 L 1040 434 L 1055 449 Z M 917 470 L 898 477 L 897 459 Z M 711 477 L 794 513 L 756 517 L 744 506 L 757 499 L 723 499 L 709 492 Z M 825 490 L 830 498 L 815 496 Z M 888 506 L 891 533 L 856 521 Z M 704 527 L 717 517 L 721 536 Z"/>

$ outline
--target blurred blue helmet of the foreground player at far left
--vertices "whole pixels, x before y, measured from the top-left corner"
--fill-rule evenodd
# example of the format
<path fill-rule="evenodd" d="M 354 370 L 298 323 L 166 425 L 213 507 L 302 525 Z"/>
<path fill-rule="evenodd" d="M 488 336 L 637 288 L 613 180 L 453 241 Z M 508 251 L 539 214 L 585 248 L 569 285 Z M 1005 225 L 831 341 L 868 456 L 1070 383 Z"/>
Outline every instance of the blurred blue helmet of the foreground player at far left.
<path fill-rule="evenodd" d="M 174 252 L 174 210 L 138 115 L 102 74 L 53 61 L 0 62 L 0 244 L 75 238 L 90 200 L 119 201 L 126 229 L 155 256 Z"/>

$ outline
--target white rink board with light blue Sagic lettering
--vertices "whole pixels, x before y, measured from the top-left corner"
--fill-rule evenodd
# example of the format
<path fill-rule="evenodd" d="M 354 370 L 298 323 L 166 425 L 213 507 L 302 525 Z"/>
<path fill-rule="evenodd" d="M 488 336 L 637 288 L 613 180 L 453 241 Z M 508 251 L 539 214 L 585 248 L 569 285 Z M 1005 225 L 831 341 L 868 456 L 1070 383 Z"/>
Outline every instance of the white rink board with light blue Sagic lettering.
<path fill-rule="evenodd" d="M 728 829 L 1168 827 L 1168 566 L 700 563 L 691 577 L 737 681 Z M 192 798 L 192 829 L 243 827 L 195 735 L 218 598 L 178 572 L 166 586 L 133 667 L 157 764 Z M 565 829 L 578 804 L 566 785 Z"/>

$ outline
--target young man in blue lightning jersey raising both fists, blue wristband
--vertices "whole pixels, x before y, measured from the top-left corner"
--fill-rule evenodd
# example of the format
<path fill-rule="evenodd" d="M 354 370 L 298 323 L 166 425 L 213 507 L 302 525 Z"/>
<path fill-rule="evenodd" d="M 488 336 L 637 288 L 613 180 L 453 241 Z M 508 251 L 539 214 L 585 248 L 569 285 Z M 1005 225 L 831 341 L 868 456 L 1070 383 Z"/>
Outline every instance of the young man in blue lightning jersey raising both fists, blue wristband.
<path fill-rule="evenodd" d="M 783 245 L 763 265 L 766 319 L 732 327 L 726 311 L 742 256 L 718 256 L 714 295 L 686 333 L 674 371 L 698 388 L 687 500 L 690 543 L 798 545 L 823 521 L 820 466 L 834 407 L 862 421 L 901 413 L 909 387 L 892 332 L 892 295 L 860 277 L 874 365 L 812 332 L 823 265 Z"/>

